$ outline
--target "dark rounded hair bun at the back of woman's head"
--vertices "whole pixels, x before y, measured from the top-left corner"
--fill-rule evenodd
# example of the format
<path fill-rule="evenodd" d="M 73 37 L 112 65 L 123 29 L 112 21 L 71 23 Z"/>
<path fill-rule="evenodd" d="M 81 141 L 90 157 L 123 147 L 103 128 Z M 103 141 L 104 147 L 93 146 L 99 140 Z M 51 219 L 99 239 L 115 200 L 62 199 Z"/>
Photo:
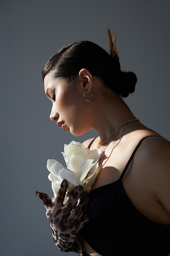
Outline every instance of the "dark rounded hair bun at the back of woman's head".
<path fill-rule="evenodd" d="M 120 81 L 120 88 L 119 94 L 126 98 L 129 96 L 130 93 L 134 93 L 135 86 L 137 83 L 137 76 L 133 72 L 123 72 L 121 71 L 121 81 Z"/>

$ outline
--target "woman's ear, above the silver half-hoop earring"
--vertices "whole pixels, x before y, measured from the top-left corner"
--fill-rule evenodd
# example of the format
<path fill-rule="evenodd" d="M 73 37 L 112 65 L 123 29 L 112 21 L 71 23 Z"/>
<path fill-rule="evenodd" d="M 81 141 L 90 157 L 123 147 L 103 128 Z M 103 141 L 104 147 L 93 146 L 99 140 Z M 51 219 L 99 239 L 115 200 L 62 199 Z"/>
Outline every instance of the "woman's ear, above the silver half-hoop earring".
<path fill-rule="evenodd" d="M 86 90 L 87 93 L 89 93 L 93 82 L 92 74 L 90 71 L 87 69 L 81 69 L 79 72 L 79 81 L 82 82 L 83 90 Z"/>

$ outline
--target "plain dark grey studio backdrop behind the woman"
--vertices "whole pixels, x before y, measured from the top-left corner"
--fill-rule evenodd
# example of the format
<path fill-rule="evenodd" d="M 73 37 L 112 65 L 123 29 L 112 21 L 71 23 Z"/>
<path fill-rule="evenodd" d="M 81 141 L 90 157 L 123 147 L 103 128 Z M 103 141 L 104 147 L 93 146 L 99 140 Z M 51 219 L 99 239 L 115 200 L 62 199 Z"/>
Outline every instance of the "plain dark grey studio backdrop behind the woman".
<path fill-rule="evenodd" d="M 168 0 L 0 1 L 1 255 L 64 255 L 35 190 L 53 196 L 47 159 L 64 164 L 64 143 L 97 132 L 75 138 L 49 119 L 41 70 L 62 46 L 89 40 L 108 50 L 107 28 L 117 31 L 121 67 L 138 76 L 136 93 L 125 102 L 170 140 L 169 7 Z"/>

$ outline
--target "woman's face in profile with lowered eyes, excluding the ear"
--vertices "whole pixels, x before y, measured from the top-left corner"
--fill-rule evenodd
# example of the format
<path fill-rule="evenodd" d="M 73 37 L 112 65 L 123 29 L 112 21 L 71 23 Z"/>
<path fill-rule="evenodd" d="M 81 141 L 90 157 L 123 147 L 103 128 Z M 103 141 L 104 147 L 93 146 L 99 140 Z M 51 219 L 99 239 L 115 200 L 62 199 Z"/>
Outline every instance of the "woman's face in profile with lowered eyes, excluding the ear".
<path fill-rule="evenodd" d="M 61 79 L 53 78 L 49 73 L 44 79 L 45 93 L 53 102 L 50 119 L 64 131 L 80 136 L 90 130 L 87 123 L 87 111 L 83 97 L 83 88 L 70 88 Z"/>

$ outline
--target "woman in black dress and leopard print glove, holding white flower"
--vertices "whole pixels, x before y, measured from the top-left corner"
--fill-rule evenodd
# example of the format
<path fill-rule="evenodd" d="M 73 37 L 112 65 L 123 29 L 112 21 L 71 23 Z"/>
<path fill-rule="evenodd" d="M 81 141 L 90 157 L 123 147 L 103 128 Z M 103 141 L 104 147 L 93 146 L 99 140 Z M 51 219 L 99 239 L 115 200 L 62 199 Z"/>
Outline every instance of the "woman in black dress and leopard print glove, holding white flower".
<path fill-rule="evenodd" d="M 83 143 L 103 151 L 96 181 L 71 214 L 81 186 L 65 206 L 66 180 L 53 207 L 46 194 L 37 196 L 62 251 L 78 252 L 81 230 L 84 255 L 168 256 L 170 142 L 142 125 L 122 100 L 134 92 L 137 78 L 120 70 L 116 37 L 108 33 L 110 55 L 80 41 L 62 48 L 43 70 L 45 92 L 53 102 L 51 120 L 75 136 L 91 128 L 99 133 Z"/>

